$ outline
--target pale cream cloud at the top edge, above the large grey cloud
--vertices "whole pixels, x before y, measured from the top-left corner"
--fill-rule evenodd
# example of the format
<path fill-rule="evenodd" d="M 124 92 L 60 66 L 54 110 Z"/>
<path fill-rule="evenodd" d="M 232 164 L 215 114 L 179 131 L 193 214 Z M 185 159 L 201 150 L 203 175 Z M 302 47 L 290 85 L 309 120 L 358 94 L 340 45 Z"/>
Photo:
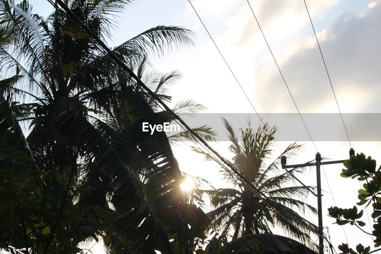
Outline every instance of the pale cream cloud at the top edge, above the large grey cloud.
<path fill-rule="evenodd" d="M 322 12 L 330 10 L 341 1 L 307 1 L 307 5 L 312 18 L 322 18 Z M 249 2 L 262 30 L 268 37 L 267 39 L 276 41 L 277 38 L 282 37 L 281 42 L 278 42 L 276 46 L 272 45 L 273 48 L 279 48 L 279 51 L 283 50 L 282 46 L 285 45 L 285 39 L 286 41 L 294 39 L 309 23 L 306 7 L 299 0 Z M 233 46 L 235 47 L 243 47 L 248 43 L 252 44 L 255 35 L 260 33 L 246 1 L 239 12 L 227 20 L 226 25 L 228 30 L 225 33 L 225 38 L 231 38 L 234 35 L 236 40 Z"/>

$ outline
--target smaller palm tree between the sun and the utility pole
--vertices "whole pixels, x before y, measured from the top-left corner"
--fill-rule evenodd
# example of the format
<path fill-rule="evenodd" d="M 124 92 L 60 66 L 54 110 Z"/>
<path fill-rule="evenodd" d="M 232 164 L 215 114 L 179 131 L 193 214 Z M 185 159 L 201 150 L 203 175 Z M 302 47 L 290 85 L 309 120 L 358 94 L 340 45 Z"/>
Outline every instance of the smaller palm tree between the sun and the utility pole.
<path fill-rule="evenodd" d="M 288 235 L 311 244 L 306 232 L 315 235 L 317 227 L 304 219 L 298 211 L 308 209 L 316 213 L 314 207 L 304 202 L 307 188 L 313 187 L 294 186 L 291 175 L 279 170 L 280 157 L 295 156 L 302 150 L 302 146 L 298 143 L 288 145 L 280 156 L 271 162 L 276 127 L 270 128 L 268 124 L 264 124 L 255 131 L 249 121 L 246 129 L 240 129 L 239 140 L 232 125 L 226 119 L 223 119 L 223 123 L 232 143 L 229 146 L 233 154 L 232 164 L 268 199 L 260 198 L 261 195 L 244 185 L 237 175 L 223 169 L 222 177 L 232 188 L 204 191 L 210 197 L 211 206 L 214 208 L 207 214 L 211 217 L 208 228 L 219 230 L 221 235 L 232 234 L 232 239 L 236 239 L 245 235 L 272 233 L 272 228 L 277 227 Z M 215 160 L 198 148 L 194 148 L 194 151 L 204 154 L 206 159 Z M 291 174 L 303 173 L 299 169 L 290 171 Z"/>

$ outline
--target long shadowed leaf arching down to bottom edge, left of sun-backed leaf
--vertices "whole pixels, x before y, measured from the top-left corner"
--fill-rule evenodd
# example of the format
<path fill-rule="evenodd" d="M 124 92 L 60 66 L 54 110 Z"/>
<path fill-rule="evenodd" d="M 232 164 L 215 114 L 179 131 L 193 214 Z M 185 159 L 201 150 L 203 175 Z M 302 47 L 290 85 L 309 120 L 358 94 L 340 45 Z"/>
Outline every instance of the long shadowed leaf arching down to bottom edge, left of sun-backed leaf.
<path fill-rule="evenodd" d="M 134 236 L 128 239 L 130 245 L 134 246 L 137 236 L 141 238 L 140 241 L 145 241 L 146 243 L 154 238 L 160 238 L 166 243 L 165 246 L 167 248 L 161 251 L 170 251 L 165 230 L 158 223 L 156 215 L 151 211 L 144 198 L 140 183 L 131 175 L 125 163 L 113 149 L 113 146 L 102 137 L 93 125 L 91 125 L 85 117 L 75 116 L 76 111 L 73 108 L 69 109 L 69 114 L 67 112 L 61 113 L 57 119 L 56 129 L 59 135 L 61 135 L 62 138 L 67 137 L 66 139 L 68 141 L 71 140 L 74 132 L 74 137 L 80 140 L 82 153 L 91 156 L 95 162 L 95 167 L 112 180 L 111 187 L 115 188 L 114 197 L 123 196 L 123 203 L 114 203 L 114 206 L 119 212 L 125 214 L 123 217 L 129 225 L 134 225 L 128 227 L 128 231 L 130 232 L 128 235 Z M 78 126 L 80 126 L 80 128 L 78 128 Z M 133 126 L 130 126 L 130 129 L 132 127 Z M 129 146 L 130 149 L 132 149 L 134 147 L 133 140 L 126 138 L 126 136 L 123 138 L 124 139 L 121 140 L 121 138 L 116 137 L 114 140 L 120 142 L 123 147 Z M 126 158 L 126 156 L 123 158 Z M 118 198 L 115 198 L 115 200 L 119 201 Z M 135 220 L 134 223 L 132 223 L 133 220 Z M 117 237 L 123 242 L 125 241 L 123 239 L 125 236 L 126 232 L 124 232 L 122 236 L 118 235 Z"/>

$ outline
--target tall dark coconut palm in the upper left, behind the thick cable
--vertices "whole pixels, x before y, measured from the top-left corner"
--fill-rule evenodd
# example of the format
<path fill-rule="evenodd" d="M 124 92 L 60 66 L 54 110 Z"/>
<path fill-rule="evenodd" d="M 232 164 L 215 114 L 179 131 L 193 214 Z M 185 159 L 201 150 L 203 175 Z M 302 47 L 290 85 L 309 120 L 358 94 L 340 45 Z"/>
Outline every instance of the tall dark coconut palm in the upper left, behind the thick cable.
<path fill-rule="evenodd" d="M 114 13 L 122 11 L 130 2 L 74 0 L 67 4 L 103 40 L 111 37 Z M 32 120 L 33 126 L 29 145 L 36 154 L 47 155 L 35 156 L 46 168 L 62 166 L 67 163 L 64 161 L 67 156 L 62 156 L 67 149 L 48 130 L 54 119 L 70 107 L 84 114 L 95 109 L 112 113 L 137 88 L 131 77 L 119 75 L 107 55 L 92 43 L 90 35 L 78 31 L 61 10 L 54 11 L 45 21 L 31 13 L 27 1 L 15 5 L 13 0 L 1 0 L 0 13 L 18 31 L 14 43 L 1 48 L 0 64 L 8 67 L 8 73 L 19 69 L 25 79 L 13 91 L 24 96 L 28 94 L 26 90 L 33 91 L 32 99 L 36 100 L 29 104 L 34 112 L 25 116 Z M 192 36 L 191 31 L 181 27 L 157 26 L 112 51 L 133 68 L 149 51 L 160 55 L 172 45 L 190 45 Z"/>

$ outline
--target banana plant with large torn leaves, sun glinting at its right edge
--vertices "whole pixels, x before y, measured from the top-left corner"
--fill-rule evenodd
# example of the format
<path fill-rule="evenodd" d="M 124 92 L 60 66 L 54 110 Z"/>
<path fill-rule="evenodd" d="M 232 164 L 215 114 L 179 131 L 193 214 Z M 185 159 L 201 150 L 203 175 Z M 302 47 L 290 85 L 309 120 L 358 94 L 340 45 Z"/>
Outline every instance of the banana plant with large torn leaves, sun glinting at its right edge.
<path fill-rule="evenodd" d="M 110 142 L 75 108 L 61 113 L 54 128 L 61 140 L 79 143 L 80 154 L 91 164 L 93 175 L 101 176 L 101 182 L 112 190 L 110 201 L 126 225 L 120 229 L 120 219 L 106 221 L 109 230 L 117 229 L 113 251 L 174 253 L 178 248 L 192 248 L 188 245 L 195 237 L 205 238 L 208 217 L 194 204 L 186 203 L 180 188 L 184 177 L 165 133 L 142 131 L 142 122 L 163 124 L 171 117 L 166 112 L 155 113 L 141 95 L 126 99 L 125 105 L 131 124 Z M 136 167 L 144 167 L 145 185 L 131 174 Z M 93 199 L 105 196 L 106 192 Z"/>

